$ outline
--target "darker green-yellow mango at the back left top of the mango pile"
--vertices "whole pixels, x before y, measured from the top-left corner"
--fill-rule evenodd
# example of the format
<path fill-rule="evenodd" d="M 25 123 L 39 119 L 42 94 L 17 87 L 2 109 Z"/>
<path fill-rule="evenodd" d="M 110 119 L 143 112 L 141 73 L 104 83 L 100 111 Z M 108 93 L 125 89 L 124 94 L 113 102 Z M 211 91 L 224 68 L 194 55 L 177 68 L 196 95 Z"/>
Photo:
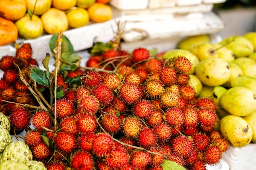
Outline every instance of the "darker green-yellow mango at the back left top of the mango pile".
<path fill-rule="evenodd" d="M 189 50 L 192 45 L 195 44 L 204 44 L 210 42 L 210 38 L 208 35 L 195 35 L 186 37 L 185 39 L 181 40 L 178 48 L 183 50 Z"/>

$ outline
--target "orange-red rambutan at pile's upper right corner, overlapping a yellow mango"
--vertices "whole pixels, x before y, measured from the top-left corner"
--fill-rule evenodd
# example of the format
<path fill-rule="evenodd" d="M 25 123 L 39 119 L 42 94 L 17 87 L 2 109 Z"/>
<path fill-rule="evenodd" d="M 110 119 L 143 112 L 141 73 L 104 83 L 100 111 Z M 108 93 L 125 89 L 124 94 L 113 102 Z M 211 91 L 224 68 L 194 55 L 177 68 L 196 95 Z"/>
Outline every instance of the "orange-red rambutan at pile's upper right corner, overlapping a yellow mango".
<path fill-rule="evenodd" d="M 192 70 L 192 63 L 186 57 L 178 56 L 174 59 L 174 67 L 180 73 L 189 74 Z"/>

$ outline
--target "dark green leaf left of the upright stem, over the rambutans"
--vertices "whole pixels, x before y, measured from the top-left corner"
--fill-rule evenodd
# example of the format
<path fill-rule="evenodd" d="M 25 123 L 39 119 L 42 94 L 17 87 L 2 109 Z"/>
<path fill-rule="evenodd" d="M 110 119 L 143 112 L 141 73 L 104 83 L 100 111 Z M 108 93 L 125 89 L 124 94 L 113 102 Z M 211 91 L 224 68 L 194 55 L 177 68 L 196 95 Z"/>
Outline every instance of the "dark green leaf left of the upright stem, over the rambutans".
<path fill-rule="evenodd" d="M 40 85 L 45 85 L 49 87 L 49 81 L 44 74 L 44 71 L 39 67 L 32 68 L 30 71 L 30 77 Z"/>

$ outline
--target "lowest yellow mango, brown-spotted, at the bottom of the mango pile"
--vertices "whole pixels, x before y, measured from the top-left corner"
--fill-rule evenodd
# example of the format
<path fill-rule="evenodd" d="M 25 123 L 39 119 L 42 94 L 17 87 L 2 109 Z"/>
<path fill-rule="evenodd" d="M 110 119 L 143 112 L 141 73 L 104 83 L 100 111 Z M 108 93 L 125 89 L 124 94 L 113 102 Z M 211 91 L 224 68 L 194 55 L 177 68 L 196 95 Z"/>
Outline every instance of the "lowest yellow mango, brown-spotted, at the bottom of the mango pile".
<path fill-rule="evenodd" d="M 228 115 L 221 119 L 220 131 L 234 147 L 246 146 L 253 137 L 253 130 L 246 120 L 235 115 Z"/>

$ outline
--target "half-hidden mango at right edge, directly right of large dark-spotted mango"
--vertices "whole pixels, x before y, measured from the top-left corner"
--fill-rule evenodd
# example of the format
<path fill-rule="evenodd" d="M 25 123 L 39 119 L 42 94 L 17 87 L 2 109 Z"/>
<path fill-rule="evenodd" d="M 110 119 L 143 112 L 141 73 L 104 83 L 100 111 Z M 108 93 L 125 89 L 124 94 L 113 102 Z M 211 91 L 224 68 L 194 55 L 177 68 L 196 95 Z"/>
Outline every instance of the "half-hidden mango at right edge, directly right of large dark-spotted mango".
<path fill-rule="evenodd" d="M 243 76 L 256 78 L 256 61 L 251 58 L 241 57 L 233 61 L 243 71 Z"/>

